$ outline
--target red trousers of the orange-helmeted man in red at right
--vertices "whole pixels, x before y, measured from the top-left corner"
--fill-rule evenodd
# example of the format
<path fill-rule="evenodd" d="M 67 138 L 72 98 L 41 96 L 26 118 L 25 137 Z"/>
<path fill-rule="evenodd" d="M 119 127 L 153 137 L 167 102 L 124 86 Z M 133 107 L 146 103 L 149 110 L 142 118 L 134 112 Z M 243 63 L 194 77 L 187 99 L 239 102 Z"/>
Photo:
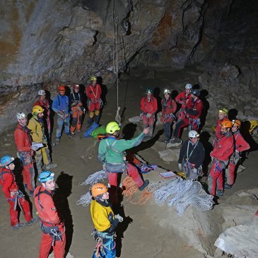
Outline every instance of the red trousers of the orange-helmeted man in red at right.
<path fill-rule="evenodd" d="M 221 163 L 218 163 L 220 166 L 220 170 L 222 169 Z M 208 184 L 209 184 L 209 193 L 212 195 L 216 195 L 216 186 L 218 180 L 218 190 L 223 191 L 223 171 L 218 170 L 216 168 L 215 160 L 212 163 L 211 171 L 209 173 Z"/>

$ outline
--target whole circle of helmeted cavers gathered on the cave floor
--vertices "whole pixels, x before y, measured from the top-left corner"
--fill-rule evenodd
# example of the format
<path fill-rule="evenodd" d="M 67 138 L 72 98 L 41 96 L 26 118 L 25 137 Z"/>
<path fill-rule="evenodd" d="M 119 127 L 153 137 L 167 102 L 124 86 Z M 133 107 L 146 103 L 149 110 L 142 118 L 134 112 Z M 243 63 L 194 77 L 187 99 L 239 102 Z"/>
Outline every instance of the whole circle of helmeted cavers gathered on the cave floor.
<path fill-rule="evenodd" d="M 88 127 L 99 122 L 102 100 L 100 98 L 101 88 L 95 76 L 90 78 L 90 85 L 86 87 L 88 97 Z M 60 143 L 61 131 L 69 138 L 73 137 L 75 131 L 81 131 L 83 108 L 83 96 L 79 93 L 79 86 L 74 85 L 72 93 L 65 95 L 65 87 L 59 86 L 59 94 L 54 98 L 52 110 L 57 113 L 56 143 Z M 65 225 L 61 220 L 52 199 L 55 182 L 54 173 L 49 171 L 57 165 L 53 164 L 49 157 L 47 137 L 50 136 L 50 107 L 45 96 L 45 90 L 38 92 L 39 100 L 33 106 L 32 115 L 28 121 L 23 112 L 17 116 L 18 126 L 14 133 L 18 158 L 23 165 L 23 184 L 28 195 L 34 197 L 35 206 L 40 218 L 42 229 L 42 241 L 40 244 L 40 258 L 47 258 L 49 250 L 53 247 L 54 257 L 61 258 L 65 255 Z M 172 99 L 171 92 L 165 89 L 161 100 L 163 123 L 166 144 L 177 146 L 182 143 L 180 136 L 184 127 L 189 128 L 189 139 L 182 143 L 178 167 L 184 172 L 189 180 L 197 180 L 201 175 L 201 165 L 204 163 L 205 150 L 199 141 L 200 118 L 203 111 L 203 103 L 199 98 L 199 89 L 193 89 L 187 83 L 184 91 Z M 180 108 L 178 108 L 180 107 Z M 179 111 L 177 111 L 179 109 Z M 153 96 L 153 91 L 148 88 L 141 99 L 141 120 L 143 131 L 134 139 L 119 139 L 120 124 L 110 122 L 107 124 L 105 139 L 100 141 L 98 147 L 98 159 L 102 163 L 109 188 L 105 184 L 93 184 L 91 194 L 93 201 L 90 204 L 90 214 L 94 224 L 94 238 L 97 246 L 93 257 L 115 257 L 114 234 L 122 216 L 114 213 L 112 204 L 117 204 L 117 192 L 119 191 L 118 175 L 125 172 L 129 175 L 142 191 L 148 186 L 148 180 L 143 180 L 139 170 L 127 161 L 128 149 L 138 146 L 141 141 L 151 139 L 153 136 L 153 125 L 155 124 L 158 103 Z M 70 117 L 71 115 L 71 117 Z M 71 120 L 71 125 L 70 125 Z M 171 128 L 174 124 L 173 136 Z M 211 170 L 209 172 L 209 193 L 214 197 L 222 196 L 224 187 L 230 189 L 235 182 L 235 167 L 241 158 L 242 151 L 250 148 L 249 144 L 240 134 L 241 122 L 230 121 L 228 110 L 218 110 L 218 121 L 216 124 L 216 139 L 213 144 Z M 35 188 L 35 168 L 38 172 L 40 185 Z M 11 226 L 18 230 L 24 225 L 32 225 L 37 219 L 32 218 L 30 206 L 23 192 L 20 192 L 16 184 L 13 170 L 14 158 L 4 156 L 1 158 L 0 183 L 3 192 L 10 204 Z M 218 184 L 218 185 L 217 185 Z M 110 194 L 110 196 L 109 196 Z M 26 223 L 19 223 L 18 211 L 23 211 Z"/>

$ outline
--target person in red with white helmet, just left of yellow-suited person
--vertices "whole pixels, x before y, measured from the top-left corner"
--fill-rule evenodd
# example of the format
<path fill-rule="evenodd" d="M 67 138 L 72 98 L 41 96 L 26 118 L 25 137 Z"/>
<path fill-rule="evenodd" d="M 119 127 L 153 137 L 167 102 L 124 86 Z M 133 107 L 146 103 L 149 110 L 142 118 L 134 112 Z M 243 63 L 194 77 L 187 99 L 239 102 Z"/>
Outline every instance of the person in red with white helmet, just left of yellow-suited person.
<path fill-rule="evenodd" d="M 33 165 L 33 151 L 38 148 L 32 147 L 32 139 L 30 136 L 30 129 L 27 128 L 27 117 L 23 112 L 16 115 L 18 125 L 14 131 L 14 139 L 18 151 L 18 157 L 23 163 L 23 184 L 24 188 L 28 189 L 29 195 L 33 195 L 35 190 L 35 170 Z M 33 149 L 33 150 L 32 150 Z"/>

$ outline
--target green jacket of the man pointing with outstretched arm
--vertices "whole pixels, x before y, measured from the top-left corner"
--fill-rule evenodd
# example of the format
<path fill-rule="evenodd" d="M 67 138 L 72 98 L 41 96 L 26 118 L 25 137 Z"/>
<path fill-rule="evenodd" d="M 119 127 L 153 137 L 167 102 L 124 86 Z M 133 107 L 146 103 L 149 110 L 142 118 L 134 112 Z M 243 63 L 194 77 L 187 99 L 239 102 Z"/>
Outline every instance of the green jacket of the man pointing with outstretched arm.
<path fill-rule="evenodd" d="M 102 163 L 123 163 L 123 152 L 138 146 L 143 140 L 143 132 L 131 140 L 117 140 L 115 137 L 102 139 L 98 146 L 98 159 Z"/>

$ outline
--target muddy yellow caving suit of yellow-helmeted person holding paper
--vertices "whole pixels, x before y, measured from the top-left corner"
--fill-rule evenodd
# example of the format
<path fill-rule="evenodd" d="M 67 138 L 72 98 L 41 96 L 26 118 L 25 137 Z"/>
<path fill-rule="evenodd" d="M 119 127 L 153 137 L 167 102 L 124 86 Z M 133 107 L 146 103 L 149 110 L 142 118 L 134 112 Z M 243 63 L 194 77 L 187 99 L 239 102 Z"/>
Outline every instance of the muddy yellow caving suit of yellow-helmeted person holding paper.
<path fill-rule="evenodd" d="M 49 148 L 47 146 L 47 139 L 45 136 L 44 124 L 42 119 L 38 119 L 33 115 L 28 123 L 28 129 L 35 143 L 42 143 L 44 146 L 35 151 L 37 172 L 42 172 L 42 165 L 49 165 L 51 163 L 49 156 Z M 42 163 L 43 160 L 43 163 Z"/>

